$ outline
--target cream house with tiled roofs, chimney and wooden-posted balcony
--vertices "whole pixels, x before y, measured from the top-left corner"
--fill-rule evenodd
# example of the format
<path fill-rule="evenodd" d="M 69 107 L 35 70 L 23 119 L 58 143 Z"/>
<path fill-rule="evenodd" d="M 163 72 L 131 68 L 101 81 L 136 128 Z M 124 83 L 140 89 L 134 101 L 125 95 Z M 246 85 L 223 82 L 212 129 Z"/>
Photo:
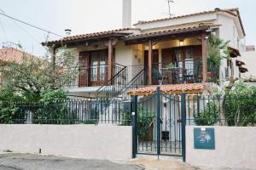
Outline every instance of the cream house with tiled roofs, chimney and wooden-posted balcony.
<path fill-rule="evenodd" d="M 130 7 L 131 1 L 124 4 Z M 236 65 L 246 50 L 238 8 L 138 21 L 131 27 L 131 8 L 124 6 L 123 27 L 43 42 L 54 47 L 53 54 L 62 45 L 76 54 L 79 66 L 70 68 L 77 74 L 67 84 L 69 94 L 113 98 L 148 85 L 201 82 L 224 88 L 230 77 L 246 71 Z M 230 41 L 231 58 L 221 59 L 219 66 L 207 62 L 207 39 L 212 35 Z"/>

